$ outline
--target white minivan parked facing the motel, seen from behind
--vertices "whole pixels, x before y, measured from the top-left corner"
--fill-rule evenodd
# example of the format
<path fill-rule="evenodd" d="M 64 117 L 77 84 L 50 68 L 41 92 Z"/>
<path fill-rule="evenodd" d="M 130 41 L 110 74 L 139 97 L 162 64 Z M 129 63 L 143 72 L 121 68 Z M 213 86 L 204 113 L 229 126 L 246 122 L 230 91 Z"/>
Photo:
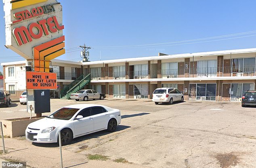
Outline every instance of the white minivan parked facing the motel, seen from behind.
<path fill-rule="evenodd" d="M 157 88 L 153 92 L 152 101 L 155 104 L 159 102 L 167 102 L 172 104 L 173 102 L 184 101 L 183 94 L 177 88 Z"/>

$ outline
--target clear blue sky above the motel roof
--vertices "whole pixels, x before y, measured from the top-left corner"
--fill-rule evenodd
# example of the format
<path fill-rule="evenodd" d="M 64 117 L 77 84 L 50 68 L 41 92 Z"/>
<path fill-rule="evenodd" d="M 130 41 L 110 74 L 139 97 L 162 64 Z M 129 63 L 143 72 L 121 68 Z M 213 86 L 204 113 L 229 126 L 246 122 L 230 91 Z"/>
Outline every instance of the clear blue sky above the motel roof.
<path fill-rule="evenodd" d="M 63 6 L 66 53 L 90 61 L 256 47 L 254 0 L 58 0 Z M 0 5 L 0 63 L 23 57 L 4 47 Z M 2 66 L 0 66 L 2 72 Z"/>

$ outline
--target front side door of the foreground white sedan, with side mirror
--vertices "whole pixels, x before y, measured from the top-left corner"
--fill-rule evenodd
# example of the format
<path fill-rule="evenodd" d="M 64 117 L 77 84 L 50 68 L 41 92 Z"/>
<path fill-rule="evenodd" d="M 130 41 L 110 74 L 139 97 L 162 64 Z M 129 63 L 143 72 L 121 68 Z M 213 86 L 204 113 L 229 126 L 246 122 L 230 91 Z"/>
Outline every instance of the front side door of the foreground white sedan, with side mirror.
<path fill-rule="evenodd" d="M 83 109 L 78 113 L 78 115 L 82 115 L 84 118 L 74 120 L 73 125 L 75 136 L 94 131 L 94 119 L 91 116 L 90 109 Z"/>

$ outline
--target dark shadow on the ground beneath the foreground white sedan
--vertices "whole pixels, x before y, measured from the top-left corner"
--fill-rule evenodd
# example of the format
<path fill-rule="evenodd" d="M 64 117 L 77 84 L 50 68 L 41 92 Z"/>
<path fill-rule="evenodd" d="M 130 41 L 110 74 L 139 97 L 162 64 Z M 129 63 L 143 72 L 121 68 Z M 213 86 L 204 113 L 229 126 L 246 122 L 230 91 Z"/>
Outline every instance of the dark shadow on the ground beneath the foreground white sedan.
<path fill-rule="evenodd" d="M 122 131 L 122 130 L 127 129 L 127 128 L 130 128 L 130 126 L 118 125 L 114 132 Z M 84 135 L 84 136 L 77 137 L 77 138 L 73 139 L 71 141 L 71 143 L 69 143 L 67 145 L 71 145 L 71 144 L 78 143 L 78 142 L 81 142 L 81 141 L 84 141 L 84 140 L 88 140 L 88 139 L 94 139 L 94 138 L 98 139 L 101 136 L 108 135 L 110 133 L 112 133 L 112 132 L 109 132 L 107 130 L 99 131 L 99 132 L 96 132 L 96 133 L 90 133 L 88 135 Z M 59 147 L 59 143 L 34 143 L 34 142 L 32 142 L 32 145 L 35 145 L 35 146 L 38 146 L 38 147 L 44 147 L 44 148 L 56 148 L 56 147 Z M 64 145 L 62 145 L 62 146 L 64 146 Z"/>

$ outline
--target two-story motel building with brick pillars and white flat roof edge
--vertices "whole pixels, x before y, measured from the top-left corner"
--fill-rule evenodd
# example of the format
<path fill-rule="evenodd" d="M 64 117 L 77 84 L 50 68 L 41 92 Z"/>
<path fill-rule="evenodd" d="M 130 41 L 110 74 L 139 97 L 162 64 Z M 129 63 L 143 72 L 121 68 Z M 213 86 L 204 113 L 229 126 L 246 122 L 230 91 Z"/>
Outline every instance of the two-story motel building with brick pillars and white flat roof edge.
<path fill-rule="evenodd" d="M 25 61 L 1 66 L 4 90 L 19 99 L 26 89 Z M 256 90 L 255 66 L 256 48 L 87 62 L 53 59 L 57 89 L 50 96 L 69 98 L 73 86 L 84 84 L 107 98 L 151 99 L 156 88 L 176 87 L 184 100 L 241 101 L 244 92 Z M 82 82 L 86 76 L 89 81 Z"/>

